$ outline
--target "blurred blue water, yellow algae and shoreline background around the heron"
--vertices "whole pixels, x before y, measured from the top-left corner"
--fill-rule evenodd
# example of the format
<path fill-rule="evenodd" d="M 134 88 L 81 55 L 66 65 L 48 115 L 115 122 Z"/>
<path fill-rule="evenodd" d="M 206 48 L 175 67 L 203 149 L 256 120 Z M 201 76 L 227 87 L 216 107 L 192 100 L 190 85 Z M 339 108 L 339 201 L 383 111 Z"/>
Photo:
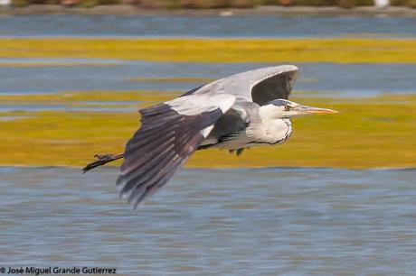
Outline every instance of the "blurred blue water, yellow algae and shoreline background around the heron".
<path fill-rule="evenodd" d="M 416 270 L 413 0 L 0 0 L 0 256 L 119 274 Z M 197 152 L 137 211 L 118 198 L 137 110 L 216 78 L 300 69 L 338 110 L 290 140 Z"/>

